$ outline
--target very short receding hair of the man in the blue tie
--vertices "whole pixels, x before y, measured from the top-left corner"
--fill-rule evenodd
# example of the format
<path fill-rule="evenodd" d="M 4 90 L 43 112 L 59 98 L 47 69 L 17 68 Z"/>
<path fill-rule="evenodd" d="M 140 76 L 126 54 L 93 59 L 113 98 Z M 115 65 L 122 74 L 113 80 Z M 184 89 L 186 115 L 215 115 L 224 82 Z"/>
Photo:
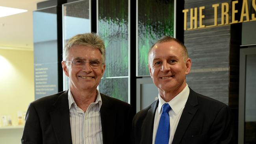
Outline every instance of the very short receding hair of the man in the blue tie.
<path fill-rule="evenodd" d="M 178 44 L 180 44 L 180 46 L 183 48 L 183 58 L 184 58 L 184 61 L 186 61 L 186 59 L 188 58 L 188 53 L 187 53 L 187 48 L 186 46 L 181 42 L 179 41 L 178 39 L 175 39 L 173 37 L 169 37 L 169 36 L 164 36 L 164 37 L 161 37 L 161 39 L 159 39 L 157 42 L 155 42 L 151 48 L 149 49 L 148 51 L 148 63 L 149 63 L 149 55 L 150 55 L 150 52 L 152 51 L 152 48 L 156 45 L 156 44 L 159 44 L 159 43 L 163 43 L 163 42 L 171 42 L 171 41 L 176 41 Z"/>

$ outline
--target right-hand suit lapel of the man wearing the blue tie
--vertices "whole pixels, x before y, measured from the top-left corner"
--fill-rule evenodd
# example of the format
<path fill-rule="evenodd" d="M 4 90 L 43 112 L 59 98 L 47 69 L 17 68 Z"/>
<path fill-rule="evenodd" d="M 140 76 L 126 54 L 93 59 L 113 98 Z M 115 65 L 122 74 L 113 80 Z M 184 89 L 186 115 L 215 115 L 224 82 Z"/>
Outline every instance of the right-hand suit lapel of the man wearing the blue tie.
<path fill-rule="evenodd" d="M 197 108 L 195 107 L 196 105 L 198 105 L 196 93 L 189 88 L 189 97 L 176 128 L 172 144 L 180 143 L 180 140 L 187 130 L 187 127 L 197 112 Z"/>

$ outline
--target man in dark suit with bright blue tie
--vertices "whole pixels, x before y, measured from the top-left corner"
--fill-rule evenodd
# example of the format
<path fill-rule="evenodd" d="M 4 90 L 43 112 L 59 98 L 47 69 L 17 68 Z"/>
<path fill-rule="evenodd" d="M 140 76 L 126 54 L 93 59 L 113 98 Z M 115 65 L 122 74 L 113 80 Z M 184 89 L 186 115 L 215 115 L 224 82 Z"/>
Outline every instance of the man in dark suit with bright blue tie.
<path fill-rule="evenodd" d="M 148 69 L 158 100 L 133 120 L 134 144 L 229 144 L 227 105 L 194 92 L 186 83 L 191 59 L 182 42 L 163 37 L 148 52 Z"/>

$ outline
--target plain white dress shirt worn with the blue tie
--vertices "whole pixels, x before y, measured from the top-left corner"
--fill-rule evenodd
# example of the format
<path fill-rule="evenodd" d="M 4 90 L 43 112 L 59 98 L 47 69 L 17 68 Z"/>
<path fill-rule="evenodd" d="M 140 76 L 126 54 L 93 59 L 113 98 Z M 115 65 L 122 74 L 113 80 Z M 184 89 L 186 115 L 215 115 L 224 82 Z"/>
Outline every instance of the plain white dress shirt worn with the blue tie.
<path fill-rule="evenodd" d="M 169 111 L 170 117 L 170 137 L 169 137 L 169 144 L 173 142 L 173 136 L 180 121 L 180 116 L 183 112 L 185 104 L 187 102 L 187 98 L 189 96 L 189 87 L 186 87 L 177 95 L 175 96 L 170 102 L 165 102 L 161 96 L 158 94 L 158 108 L 156 109 L 155 120 L 154 120 L 154 129 L 153 129 L 153 136 L 152 136 L 152 144 L 155 144 L 156 140 L 156 132 L 158 129 L 159 120 L 162 114 L 162 106 L 165 103 L 168 103 L 171 107 Z"/>

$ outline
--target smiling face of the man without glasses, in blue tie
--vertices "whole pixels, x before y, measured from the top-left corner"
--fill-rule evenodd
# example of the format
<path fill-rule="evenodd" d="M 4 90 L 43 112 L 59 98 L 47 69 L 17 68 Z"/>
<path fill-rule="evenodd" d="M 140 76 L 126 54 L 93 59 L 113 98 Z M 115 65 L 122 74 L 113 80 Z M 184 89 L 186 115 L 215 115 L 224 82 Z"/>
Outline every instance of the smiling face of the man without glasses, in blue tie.
<path fill-rule="evenodd" d="M 184 59 L 184 50 L 178 42 L 155 44 L 148 58 L 150 76 L 158 90 L 175 92 L 186 86 L 191 60 Z"/>

